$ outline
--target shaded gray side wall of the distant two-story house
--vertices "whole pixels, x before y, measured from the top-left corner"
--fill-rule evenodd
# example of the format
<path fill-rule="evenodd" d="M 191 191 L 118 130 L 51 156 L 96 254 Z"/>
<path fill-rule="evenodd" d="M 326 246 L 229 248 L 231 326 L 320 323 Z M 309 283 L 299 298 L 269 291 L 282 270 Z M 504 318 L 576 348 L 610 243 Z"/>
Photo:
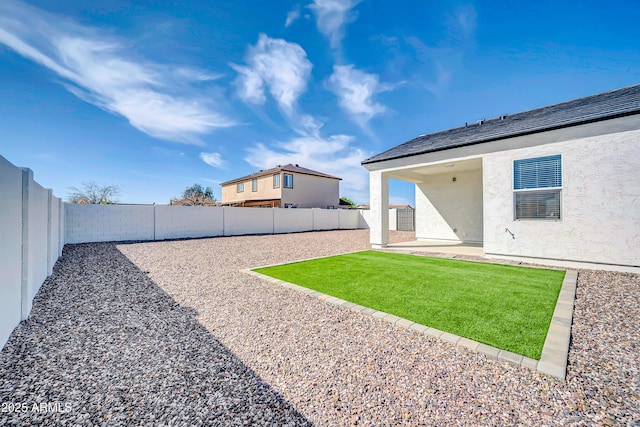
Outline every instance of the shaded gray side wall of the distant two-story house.
<path fill-rule="evenodd" d="M 288 172 L 287 172 L 288 173 Z M 281 180 L 282 207 L 285 204 L 297 204 L 299 208 L 323 208 L 340 203 L 340 181 L 314 175 L 292 173 L 293 188 L 284 188 Z"/>

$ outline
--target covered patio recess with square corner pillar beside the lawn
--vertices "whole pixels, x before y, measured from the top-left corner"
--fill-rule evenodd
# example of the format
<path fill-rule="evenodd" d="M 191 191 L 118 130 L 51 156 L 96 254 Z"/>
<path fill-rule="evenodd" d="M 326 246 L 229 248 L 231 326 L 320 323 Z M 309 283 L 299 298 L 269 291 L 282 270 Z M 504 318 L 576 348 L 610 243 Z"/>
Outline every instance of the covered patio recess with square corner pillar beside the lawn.
<path fill-rule="evenodd" d="M 482 158 L 391 162 L 394 165 L 366 165 L 370 170 L 372 247 L 482 256 Z M 415 242 L 389 245 L 389 179 L 415 184 Z"/>

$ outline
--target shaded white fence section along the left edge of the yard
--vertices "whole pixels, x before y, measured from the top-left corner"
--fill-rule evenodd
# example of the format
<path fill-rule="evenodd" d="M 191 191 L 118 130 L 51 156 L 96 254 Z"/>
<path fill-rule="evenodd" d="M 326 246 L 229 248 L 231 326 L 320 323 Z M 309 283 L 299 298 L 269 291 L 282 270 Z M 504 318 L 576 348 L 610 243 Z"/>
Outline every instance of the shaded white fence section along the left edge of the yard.
<path fill-rule="evenodd" d="M 62 201 L 0 156 L 0 348 L 29 315 L 63 245 Z"/>

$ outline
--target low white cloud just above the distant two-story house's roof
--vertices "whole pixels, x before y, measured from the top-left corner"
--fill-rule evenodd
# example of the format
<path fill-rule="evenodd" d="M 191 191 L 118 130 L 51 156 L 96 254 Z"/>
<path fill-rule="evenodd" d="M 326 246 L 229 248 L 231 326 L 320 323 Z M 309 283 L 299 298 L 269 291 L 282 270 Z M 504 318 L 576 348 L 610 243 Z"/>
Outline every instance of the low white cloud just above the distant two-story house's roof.
<path fill-rule="evenodd" d="M 369 199 L 369 173 L 360 164 L 372 153 L 352 146 L 353 137 L 306 135 L 277 142 L 273 148 L 264 144 L 250 147 L 245 160 L 259 169 L 269 169 L 287 163 L 324 172 L 342 178 L 340 195 L 356 201 Z"/>

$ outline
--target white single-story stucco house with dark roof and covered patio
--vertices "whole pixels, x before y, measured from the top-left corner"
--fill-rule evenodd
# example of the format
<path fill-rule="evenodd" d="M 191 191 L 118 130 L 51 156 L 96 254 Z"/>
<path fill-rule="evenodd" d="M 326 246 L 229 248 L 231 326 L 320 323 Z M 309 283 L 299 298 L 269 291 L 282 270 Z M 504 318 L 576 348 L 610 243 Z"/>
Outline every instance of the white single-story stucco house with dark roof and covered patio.
<path fill-rule="evenodd" d="M 415 183 L 418 240 L 640 271 L 640 85 L 421 135 L 362 164 L 373 247 L 389 241 L 394 178 Z"/>

